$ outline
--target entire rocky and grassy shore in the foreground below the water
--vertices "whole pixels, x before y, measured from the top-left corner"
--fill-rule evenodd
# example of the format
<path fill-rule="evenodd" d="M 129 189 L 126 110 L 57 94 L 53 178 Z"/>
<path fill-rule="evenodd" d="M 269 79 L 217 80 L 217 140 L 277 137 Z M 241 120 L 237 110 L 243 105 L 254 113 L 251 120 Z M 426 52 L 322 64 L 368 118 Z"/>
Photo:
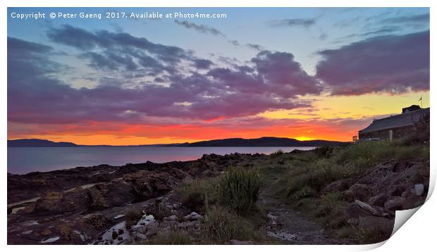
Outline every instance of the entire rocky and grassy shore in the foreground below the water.
<path fill-rule="evenodd" d="M 169 239 L 163 231 L 168 229 L 188 244 L 382 241 L 393 229 L 395 210 L 414 208 L 426 198 L 429 147 L 420 147 L 423 157 L 397 158 L 414 148 L 379 141 L 270 155 L 205 154 L 189 161 L 8 173 L 8 244 L 159 244 Z M 362 149 L 373 159 L 355 159 Z M 348 170 L 348 162 L 355 170 Z M 233 168 L 261 178 L 259 202 L 243 215 L 225 210 L 214 192 Z M 388 180 L 381 182 L 374 174 Z M 131 215 L 139 217 L 131 220 Z M 202 230 L 213 215 L 228 216 L 228 225 L 242 221 L 238 225 L 247 233 L 235 234 L 240 241 L 205 240 Z M 378 233 L 365 231 L 374 229 Z"/>

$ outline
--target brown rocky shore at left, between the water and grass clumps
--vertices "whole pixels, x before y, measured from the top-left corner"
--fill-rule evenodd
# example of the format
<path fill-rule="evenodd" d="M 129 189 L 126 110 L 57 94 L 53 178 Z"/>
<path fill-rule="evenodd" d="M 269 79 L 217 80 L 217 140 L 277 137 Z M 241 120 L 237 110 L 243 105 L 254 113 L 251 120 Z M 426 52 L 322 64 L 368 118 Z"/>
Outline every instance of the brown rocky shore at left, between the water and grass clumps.
<path fill-rule="evenodd" d="M 8 173 L 8 244 L 126 244 L 159 229 L 196 229 L 200 215 L 178 202 L 173 187 L 262 158 L 211 154 L 186 162 Z M 126 229 L 125 214 L 134 208 L 143 216 Z"/>

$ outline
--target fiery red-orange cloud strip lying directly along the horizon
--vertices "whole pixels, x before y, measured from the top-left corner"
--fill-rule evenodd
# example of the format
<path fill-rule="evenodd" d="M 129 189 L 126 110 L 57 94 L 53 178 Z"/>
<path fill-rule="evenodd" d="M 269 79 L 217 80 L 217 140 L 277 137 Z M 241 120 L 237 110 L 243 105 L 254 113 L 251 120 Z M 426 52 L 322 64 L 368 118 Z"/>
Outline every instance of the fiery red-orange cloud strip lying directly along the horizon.
<path fill-rule="evenodd" d="M 174 120 L 139 124 L 121 122 L 91 122 L 70 125 L 35 125 L 10 122 L 8 136 L 79 135 L 82 137 L 104 134 L 117 137 L 147 137 L 148 139 L 216 139 L 265 136 L 298 137 L 350 141 L 357 129 L 369 125 L 372 118 L 345 119 L 269 119 L 262 117 L 226 118 L 223 120 L 175 122 Z M 23 134 L 25 132 L 25 134 Z M 178 140 L 175 140 L 178 141 Z"/>

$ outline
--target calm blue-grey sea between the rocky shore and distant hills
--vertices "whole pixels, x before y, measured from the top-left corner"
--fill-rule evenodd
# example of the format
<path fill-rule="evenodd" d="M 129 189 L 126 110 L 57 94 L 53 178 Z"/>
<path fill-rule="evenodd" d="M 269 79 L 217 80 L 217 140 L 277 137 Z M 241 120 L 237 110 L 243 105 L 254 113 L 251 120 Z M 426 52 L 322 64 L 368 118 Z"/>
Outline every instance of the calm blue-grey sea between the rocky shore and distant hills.
<path fill-rule="evenodd" d="M 195 160 L 203 154 L 264 153 L 281 149 L 309 150 L 313 147 L 15 147 L 8 148 L 8 172 L 47 172 L 91 165 L 125 165 L 126 163 L 165 163 L 174 160 Z"/>

